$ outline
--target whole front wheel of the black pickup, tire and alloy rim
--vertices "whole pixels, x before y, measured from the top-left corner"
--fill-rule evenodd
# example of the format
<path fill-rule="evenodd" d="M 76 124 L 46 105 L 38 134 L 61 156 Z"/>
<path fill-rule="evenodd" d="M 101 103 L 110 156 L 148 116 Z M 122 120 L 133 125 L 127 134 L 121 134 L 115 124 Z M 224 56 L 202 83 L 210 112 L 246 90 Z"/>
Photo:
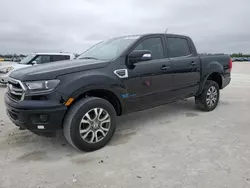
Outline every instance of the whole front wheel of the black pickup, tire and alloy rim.
<path fill-rule="evenodd" d="M 104 147 L 116 128 L 116 111 L 108 101 L 89 97 L 78 101 L 66 114 L 63 132 L 67 141 L 81 151 Z"/>

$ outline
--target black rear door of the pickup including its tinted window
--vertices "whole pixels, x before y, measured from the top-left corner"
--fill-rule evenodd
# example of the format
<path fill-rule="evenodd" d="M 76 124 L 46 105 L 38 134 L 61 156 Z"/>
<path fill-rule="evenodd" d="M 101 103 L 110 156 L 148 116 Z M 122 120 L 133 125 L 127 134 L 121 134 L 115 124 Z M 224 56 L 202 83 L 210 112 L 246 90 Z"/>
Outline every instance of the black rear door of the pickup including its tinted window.
<path fill-rule="evenodd" d="M 194 56 L 186 38 L 168 37 L 167 52 L 173 72 L 176 98 L 196 93 L 200 81 L 200 59 Z"/>

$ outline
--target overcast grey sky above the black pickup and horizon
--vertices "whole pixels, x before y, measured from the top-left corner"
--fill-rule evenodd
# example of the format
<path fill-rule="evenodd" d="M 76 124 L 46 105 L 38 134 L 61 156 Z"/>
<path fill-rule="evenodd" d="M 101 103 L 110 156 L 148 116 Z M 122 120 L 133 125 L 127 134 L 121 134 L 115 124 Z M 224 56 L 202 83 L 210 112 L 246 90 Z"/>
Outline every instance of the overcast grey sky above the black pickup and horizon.
<path fill-rule="evenodd" d="M 250 0 L 1 0 L 0 53 L 81 53 L 129 34 L 190 36 L 200 53 L 250 54 Z"/>

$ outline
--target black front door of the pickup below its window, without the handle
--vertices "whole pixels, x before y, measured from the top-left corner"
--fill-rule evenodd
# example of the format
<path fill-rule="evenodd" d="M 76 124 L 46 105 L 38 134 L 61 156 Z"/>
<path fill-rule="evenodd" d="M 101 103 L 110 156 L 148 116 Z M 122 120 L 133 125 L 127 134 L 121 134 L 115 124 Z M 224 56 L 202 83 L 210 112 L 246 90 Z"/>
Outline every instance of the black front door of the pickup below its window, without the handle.
<path fill-rule="evenodd" d="M 168 70 L 162 70 L 162 66 Z M 128 78 L 123 80 L 128 95 L 125 100 L 138 109 L 155 106 L 170 99 L 172 87 L 171 65 L 169 60 L 151 60 L 136 64 L 128 70 Z"/>

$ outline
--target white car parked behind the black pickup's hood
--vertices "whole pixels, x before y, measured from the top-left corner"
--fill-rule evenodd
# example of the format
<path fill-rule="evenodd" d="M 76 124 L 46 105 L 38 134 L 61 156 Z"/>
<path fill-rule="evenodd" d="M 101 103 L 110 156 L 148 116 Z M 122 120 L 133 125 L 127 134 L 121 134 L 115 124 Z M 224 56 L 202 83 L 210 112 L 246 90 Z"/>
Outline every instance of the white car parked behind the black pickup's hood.
<path fill-rule="evenodd" d="M 5 62 L 0 65 L 0 83 L 7 84 L 9 75 L 12 71 L 27 68 L 33 65 L 49 63 L 54 61 L 63 61 L 74 59 L 74 54 L 71 53 L 33 53 L 28 55 L 19 63 Z"/>

